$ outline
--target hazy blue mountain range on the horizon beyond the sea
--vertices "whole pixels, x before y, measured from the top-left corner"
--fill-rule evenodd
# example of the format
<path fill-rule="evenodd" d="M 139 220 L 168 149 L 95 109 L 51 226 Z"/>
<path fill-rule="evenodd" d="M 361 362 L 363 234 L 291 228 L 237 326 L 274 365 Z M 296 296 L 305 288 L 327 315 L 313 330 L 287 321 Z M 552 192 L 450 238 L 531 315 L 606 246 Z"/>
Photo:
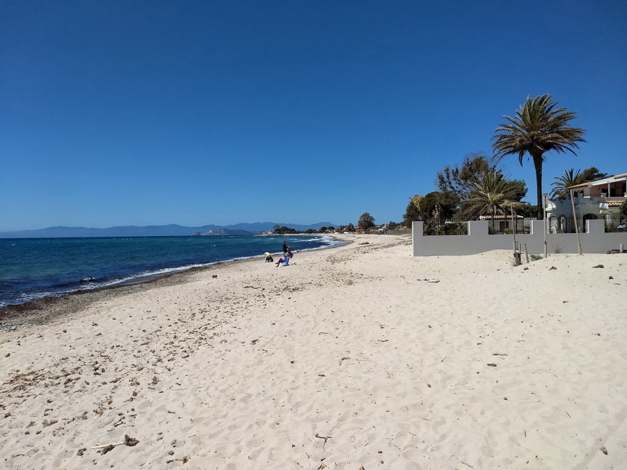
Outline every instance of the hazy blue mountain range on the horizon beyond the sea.
<path fill-rule="evenodd" d="M 109 228 L 87 227 L 48 227 L 36 230 L 18 230 L 0 232 L 0 238 L 69 238 L 69 237 L 171 237 L 176 235 L 255 235 L 274 230 L 274 226 L 286 226 L 295 230 L 305 231 L 309 228 L 318 230 L 320 227 L 334 226 L 330 222 L 311 225 L 277 224 L 276 222 L 256 222 L 254 224 L 235 224 L 227 226 L 205 225 L 201 227 L 184 227 L 176 224 L 150 226 L 120 226 Z"/>

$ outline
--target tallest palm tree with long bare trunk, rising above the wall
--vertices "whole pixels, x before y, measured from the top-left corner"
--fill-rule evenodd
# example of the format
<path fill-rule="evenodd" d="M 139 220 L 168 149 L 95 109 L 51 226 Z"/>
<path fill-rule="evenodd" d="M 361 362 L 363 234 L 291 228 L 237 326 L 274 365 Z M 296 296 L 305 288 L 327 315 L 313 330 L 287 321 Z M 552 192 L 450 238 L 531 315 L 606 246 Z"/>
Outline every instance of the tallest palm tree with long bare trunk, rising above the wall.
<path fill-rule="evenodd" d="M 536 191 L 538 196 L 538 219 L 542 219 L 542 163 L 544 153 L 549 150 L 575 154 L 578 142 L 585 142 L 585 130 L 571 127 L 571 120 L 577 118 L 574 111 L 557 108 L 557 102 L 550 95 L 538 95 L 525 101 L 516 116 L 503 116 L 509 123 L 500 124 L 493 136 L 494 155 L 502 158 L 506 155 L 518 154 L 518 162 L 522 166 L 525 152 L 531 155 L 536 169 Z"/>

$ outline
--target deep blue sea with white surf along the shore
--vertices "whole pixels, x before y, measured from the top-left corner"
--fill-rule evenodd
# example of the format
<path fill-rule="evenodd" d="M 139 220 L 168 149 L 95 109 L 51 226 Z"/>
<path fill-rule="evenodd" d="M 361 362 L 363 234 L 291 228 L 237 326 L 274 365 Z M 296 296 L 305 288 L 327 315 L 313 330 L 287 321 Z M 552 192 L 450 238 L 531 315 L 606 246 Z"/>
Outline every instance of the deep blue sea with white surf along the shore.
<path fill-rule="evenodd" d="M 324 235 L 0 239 L 0 308 L 192 267 L 341 244 Z"/>

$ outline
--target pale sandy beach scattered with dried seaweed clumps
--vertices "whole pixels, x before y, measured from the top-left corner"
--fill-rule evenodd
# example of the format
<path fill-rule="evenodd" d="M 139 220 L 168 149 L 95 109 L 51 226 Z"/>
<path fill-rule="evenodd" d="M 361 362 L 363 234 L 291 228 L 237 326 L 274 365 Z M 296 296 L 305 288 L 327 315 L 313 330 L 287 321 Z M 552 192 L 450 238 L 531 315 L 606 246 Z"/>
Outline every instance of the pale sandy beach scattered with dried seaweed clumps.
<path fill-rule="evenodd" d="M 0 318 L 0 467 L 625 468 L 627 256 L 343 237 Z"/>

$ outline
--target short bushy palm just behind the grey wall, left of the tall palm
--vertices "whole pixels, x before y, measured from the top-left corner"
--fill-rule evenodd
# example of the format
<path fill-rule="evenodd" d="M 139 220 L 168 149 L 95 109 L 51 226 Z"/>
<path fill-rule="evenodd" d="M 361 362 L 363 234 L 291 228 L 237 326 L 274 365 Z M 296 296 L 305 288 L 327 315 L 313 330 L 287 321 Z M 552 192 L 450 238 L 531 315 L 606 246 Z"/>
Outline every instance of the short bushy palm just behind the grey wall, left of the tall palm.
<path fill-rule="evenodd" d="M 462 202 L 462 214 L 468 219 L 492 214 L 494 229 L 497 214 L 509 214 L 512 205 L 520 207 L 520 184 L 503 176 L 500 171 L 481 173 L 470 183 L 469 198 Z"/>

